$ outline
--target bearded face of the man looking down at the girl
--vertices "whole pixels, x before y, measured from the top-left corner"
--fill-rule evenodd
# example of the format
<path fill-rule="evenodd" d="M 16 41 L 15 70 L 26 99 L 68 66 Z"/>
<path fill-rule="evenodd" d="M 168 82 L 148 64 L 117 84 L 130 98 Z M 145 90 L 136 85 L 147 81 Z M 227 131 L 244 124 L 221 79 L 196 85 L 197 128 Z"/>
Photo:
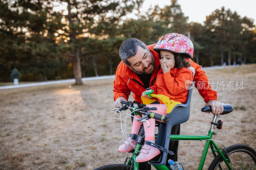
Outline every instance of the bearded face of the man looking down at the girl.
<path fill-rule="evenodd" d="M 155 68 L 155 61 L 148 49 L 138 46 L 137 53 L 127 59 L 129 66 L 137 74 L 151 74 Z"/>

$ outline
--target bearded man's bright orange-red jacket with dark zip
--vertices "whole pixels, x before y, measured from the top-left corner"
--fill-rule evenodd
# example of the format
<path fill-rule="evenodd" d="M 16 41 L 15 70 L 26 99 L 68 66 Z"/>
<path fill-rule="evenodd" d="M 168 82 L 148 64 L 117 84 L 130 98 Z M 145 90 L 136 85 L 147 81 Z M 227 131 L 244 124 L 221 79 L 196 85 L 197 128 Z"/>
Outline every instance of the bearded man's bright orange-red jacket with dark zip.
<path fill-rule="evenodd" d="M 156 81 L 156 75 L 160 69 L 159 55 L 153 50 L 155 45 L 156 44 L 147 46 L 155 59 L 155 69 L 152 73 L 149 86 L 154 85 Z M 217 92 L 211 89 L 209 80 L 201 67 L 192 60 L 190 67 L 195 68 L 195 86 L 199 94 L 204 98 L 204 101 L 207 102 L 209 100 L 217 100 Z M 114 80 L 114 100 L 116 101 L 116 99 L 121 96 L 128 100 L 129 95 L 131 94 L 131 92 L 133 92 L 132 97 L 134 98 L 134 100 L 142 103 L 140 96 L 145 90 L 146 89 L 138 75 L 128 66 L 126 66 L 123 61 L 121 61 L 116 69 L 116 78 Z"/>

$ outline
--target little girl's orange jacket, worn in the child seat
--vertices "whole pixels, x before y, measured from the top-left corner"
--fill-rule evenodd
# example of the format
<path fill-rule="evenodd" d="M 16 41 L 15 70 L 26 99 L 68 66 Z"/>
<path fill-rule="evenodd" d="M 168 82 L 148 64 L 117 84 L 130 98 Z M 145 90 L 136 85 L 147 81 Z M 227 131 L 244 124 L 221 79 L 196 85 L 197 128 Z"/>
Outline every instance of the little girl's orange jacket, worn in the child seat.
<path fill-rule="evenodd" d="M 193 72 L 188 68 L 173 68 L 165 74 L 160 69 L 156 76 L 155 84 L 150 88 L 154 90 L 154 94 L 164 94 L 171 100 L 186 103 L 188 90 L 185 84 L 187 80 L 190 83 L 193 82 Z M 159 102 L 164 104 L 161 100 Z"/>

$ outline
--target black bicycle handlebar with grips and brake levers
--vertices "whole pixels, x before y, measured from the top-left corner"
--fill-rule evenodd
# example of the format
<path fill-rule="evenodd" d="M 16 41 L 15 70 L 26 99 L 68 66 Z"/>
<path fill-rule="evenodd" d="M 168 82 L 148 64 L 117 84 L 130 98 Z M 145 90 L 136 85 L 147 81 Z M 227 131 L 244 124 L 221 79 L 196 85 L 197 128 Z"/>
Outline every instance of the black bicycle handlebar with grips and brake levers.
<path fill-rule="evenodd" d="M 131 111 L 134 111 L 135 109 L 139 109 L 137 107 L 133 107 L 132 102 L 130 101 L 121 101 L 121 103 L 123 103 L 123 107 L 120 107 L 119 109 L 116 110 L 116 112 L 120 112 L 122 110 L 127 110 L 130 109 Z M 153 108 L 152 108 L 153 109 Z M 150 108 L 148 109 L 150 110 Z M 141 115 L 145 115 L 142 118 L 139 118 L 138 121 L 142 121 L 142 120 L 148 120 L 150 118 L 154 118 L 158 121 L 163 121 L 163 122 L 168 122 L 169 121 L 169 117 L 168 116 L 164 116 L 164 115 L 160 115 L 151 111 L 145 111 L 145 110 L 136 110 L 137 113 L 141 114 Z"/>

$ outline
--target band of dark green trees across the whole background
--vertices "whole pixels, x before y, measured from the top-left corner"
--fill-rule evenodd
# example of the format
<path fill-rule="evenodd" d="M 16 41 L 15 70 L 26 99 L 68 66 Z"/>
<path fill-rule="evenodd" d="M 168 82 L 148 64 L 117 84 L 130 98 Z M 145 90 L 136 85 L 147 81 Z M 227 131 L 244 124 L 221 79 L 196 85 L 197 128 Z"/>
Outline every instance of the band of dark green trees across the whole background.
<path fill-rule="evenodd" d="M 0 0 L 0 81 L 9 81 L 14 68 L 23 81 L 114 74 L 126 39 L 150 45 L 171 32 L 190 33 L 193 60 L 200 65 L 233 63 L 238 57 L 256 62 L 253 19 L 222 7 L 204 25 L 188 23 L 177 0 L 146 13 L 139 10 L 142 2 Z M 60 5 L 66 9 L 55 11 Z M 126 17 L 131 12 L 136 19 Z"/>

